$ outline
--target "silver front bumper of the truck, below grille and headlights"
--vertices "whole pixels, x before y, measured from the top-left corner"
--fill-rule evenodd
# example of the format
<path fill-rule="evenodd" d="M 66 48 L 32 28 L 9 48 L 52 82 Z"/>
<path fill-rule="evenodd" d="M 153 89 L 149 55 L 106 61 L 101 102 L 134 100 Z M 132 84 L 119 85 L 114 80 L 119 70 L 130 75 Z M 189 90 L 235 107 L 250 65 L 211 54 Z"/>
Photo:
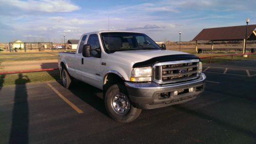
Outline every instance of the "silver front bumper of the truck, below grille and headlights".
<path fill-rule="evenodd" d="M 204 91 L 205 79 L 205 74 L 201 73 L 199 78 L 181 83 L 158 84 L 155 82 L 133 83 L 128 81 L 124 83 L 130 100 L 135 107 L 154 109 L 197 98 Z M 194 88 L 194 91 L 188 92 L 188 88 Z M 181 93 L 174 95 L 175 91 Z M 161 97 L 163 94 L 167 97 Z"/>

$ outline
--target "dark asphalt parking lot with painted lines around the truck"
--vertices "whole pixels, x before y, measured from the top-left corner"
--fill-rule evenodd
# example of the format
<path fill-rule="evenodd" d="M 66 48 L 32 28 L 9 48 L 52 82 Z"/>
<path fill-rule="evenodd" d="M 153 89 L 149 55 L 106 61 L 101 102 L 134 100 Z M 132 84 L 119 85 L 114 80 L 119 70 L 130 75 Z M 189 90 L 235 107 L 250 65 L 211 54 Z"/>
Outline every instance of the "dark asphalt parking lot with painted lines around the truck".
<path fill-rule="evenodd" d="M 0 88 L 0 143 L 256 143 L 256 60 L 204 73 L 200 98 L 143 110 L 129 124 L 109 118 L 102 92 L 80 81 Z"/>

